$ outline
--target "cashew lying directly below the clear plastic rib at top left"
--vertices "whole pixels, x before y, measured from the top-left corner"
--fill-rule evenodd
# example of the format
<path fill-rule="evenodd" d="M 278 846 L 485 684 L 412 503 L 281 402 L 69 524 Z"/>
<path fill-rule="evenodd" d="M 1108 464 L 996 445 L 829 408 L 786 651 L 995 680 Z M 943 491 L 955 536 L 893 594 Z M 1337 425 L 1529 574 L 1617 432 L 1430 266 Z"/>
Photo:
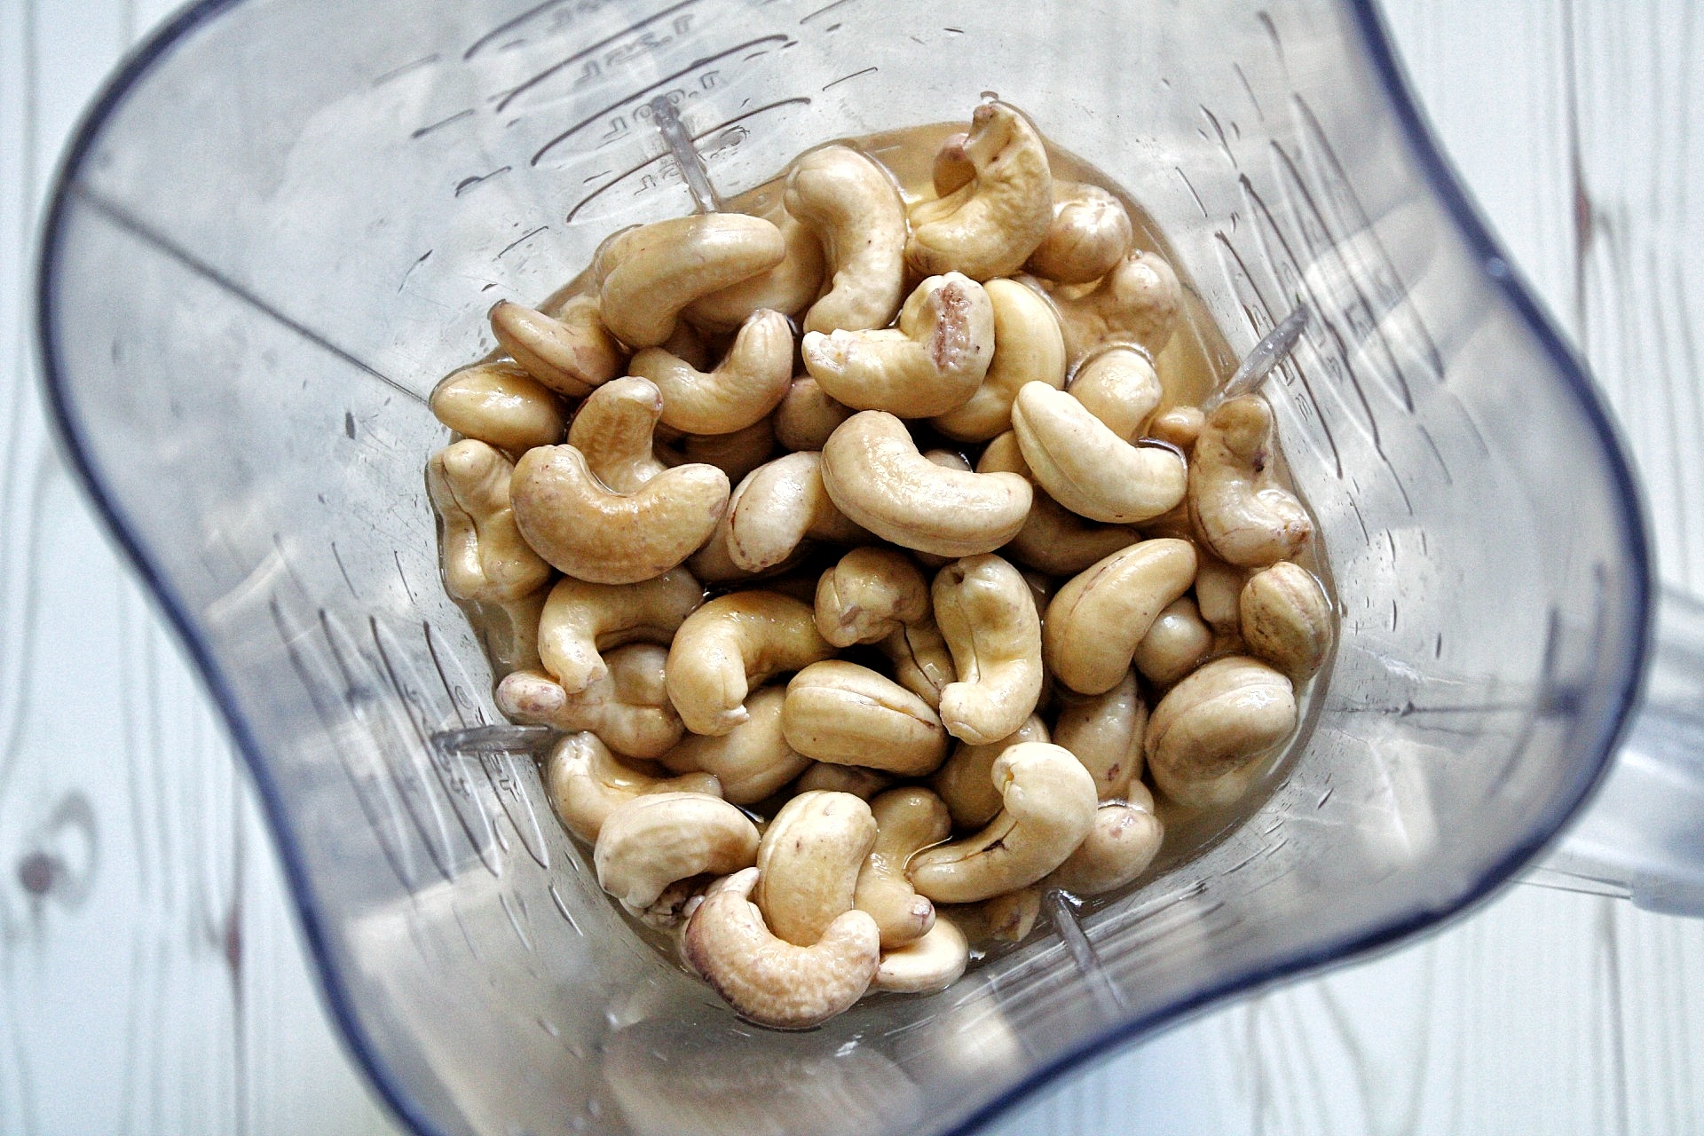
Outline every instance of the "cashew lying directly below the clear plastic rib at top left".
<path fill-rule="evenodd" d="M 629 347 L 654 347 L 699 296 L 780 264 L 774 223 L 741 213 L 699 213 L 617 233 L 593 259 L 603 324 Z"/>

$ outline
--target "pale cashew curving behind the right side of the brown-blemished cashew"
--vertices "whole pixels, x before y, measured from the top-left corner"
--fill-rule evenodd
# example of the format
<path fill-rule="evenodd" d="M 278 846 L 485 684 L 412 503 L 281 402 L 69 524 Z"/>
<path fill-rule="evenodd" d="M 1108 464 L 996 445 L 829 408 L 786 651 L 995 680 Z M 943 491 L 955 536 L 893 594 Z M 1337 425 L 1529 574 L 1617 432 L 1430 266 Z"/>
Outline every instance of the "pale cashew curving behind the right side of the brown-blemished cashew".
<path fill-rule="evenodd" d="M 1065 336 L 1053 305 L 1010 279 L 990 279 L 983 288 L 993 308 L 988 373 L 964 405 L 930 419 L 958 441 L 987 441 L 1010 429 L 1012 400 L 1024 383 L 1065 385 Z"/>

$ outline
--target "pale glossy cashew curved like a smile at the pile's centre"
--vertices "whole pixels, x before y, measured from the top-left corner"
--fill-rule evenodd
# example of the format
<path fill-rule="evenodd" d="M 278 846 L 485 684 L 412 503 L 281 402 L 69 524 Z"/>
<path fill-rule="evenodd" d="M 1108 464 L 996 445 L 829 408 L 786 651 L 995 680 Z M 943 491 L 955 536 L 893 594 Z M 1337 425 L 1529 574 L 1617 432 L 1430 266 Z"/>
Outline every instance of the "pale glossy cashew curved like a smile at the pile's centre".
<path fill-rule="evenodd" d="M 878 536 L 944 557 L 993 552 L 1024 526 L 1031 499 L 1017 473 L 941 468 L 883 410 L 854 414 L 830 436 L 823 487 Z"/>

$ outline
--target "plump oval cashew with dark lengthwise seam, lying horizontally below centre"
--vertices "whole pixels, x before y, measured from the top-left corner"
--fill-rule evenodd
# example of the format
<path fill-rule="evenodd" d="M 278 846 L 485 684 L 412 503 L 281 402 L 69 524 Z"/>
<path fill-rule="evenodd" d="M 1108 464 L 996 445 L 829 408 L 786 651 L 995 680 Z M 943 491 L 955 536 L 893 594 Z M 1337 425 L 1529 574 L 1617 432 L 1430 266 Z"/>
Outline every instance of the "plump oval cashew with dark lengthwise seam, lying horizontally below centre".
<path fill-rule="evenodd" d="M 947 756 L 947 732 L 927 702 L 842 659 L 794 674 L 780 720 L 787 744 L 818 761 L 924 777 Z"/>

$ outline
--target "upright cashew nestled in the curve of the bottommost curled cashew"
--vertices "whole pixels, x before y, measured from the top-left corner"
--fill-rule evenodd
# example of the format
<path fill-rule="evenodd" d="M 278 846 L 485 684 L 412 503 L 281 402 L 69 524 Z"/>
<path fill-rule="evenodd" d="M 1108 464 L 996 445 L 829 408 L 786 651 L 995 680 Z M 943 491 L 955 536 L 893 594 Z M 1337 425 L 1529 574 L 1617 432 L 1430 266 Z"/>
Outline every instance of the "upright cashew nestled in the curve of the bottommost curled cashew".
<path fill-rule="evenodd" d="M 808 792 L 780 806 L 757 846 L 751 901 L 779 938 L 809 947 L 852 909 L 876 818 L 852 794 Z"/>

